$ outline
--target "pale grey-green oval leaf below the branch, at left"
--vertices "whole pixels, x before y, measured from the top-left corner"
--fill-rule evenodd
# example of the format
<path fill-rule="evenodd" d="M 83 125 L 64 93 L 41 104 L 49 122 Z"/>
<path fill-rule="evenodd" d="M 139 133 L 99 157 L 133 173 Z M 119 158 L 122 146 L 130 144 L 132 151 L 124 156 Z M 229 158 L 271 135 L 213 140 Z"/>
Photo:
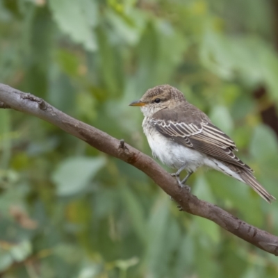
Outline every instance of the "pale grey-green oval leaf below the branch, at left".
<path fill-rule="evenodd" d="M 52 174 L 52 180 L 57 186 L 57 194 L 67 196 L 81 192 L 104 164 L 105 159 L 102 157 L 67 158 Z"/>

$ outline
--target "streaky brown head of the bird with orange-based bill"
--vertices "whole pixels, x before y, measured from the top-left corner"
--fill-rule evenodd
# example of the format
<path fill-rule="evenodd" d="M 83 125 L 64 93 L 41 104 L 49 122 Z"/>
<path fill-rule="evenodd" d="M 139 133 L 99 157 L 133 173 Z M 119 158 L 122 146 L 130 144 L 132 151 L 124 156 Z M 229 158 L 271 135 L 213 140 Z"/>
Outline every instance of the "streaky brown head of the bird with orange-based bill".
<path fill-rule="evenodd" d="M 170 85 L 158 85 L 147 90 L 141 99 L 131 102 L 130 106 L 140 106 L 145 117 L 165 109 L 174 108 L 185 101 L 179 90 Z"/>

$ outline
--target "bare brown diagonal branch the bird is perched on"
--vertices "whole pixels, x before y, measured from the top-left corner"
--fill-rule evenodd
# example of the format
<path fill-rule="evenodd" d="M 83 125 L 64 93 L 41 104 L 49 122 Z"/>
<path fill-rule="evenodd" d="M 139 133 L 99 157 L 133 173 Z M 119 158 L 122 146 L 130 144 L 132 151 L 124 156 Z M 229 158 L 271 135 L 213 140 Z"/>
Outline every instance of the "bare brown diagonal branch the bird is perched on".
<path fill-rule="evenodd" d="M 80 138 L 101 152 L 115 156 L 145 172 L 158 186 L 170 195 L 187 213 L 206 218 L 226 229 L 231 234 L 246 240 L 265 252 L 278 255 L 278 237 L 236 218 L 222 208 L 199 200 L 180 188 L 176 179 L 146 154 L 117 140 L 93 126 L 80 122 L 59 111 L 43 99 L 21 92 L 0 83 L 0 108 L 12 108 L 28 113 L 58 126 L 63 131 Z"/>

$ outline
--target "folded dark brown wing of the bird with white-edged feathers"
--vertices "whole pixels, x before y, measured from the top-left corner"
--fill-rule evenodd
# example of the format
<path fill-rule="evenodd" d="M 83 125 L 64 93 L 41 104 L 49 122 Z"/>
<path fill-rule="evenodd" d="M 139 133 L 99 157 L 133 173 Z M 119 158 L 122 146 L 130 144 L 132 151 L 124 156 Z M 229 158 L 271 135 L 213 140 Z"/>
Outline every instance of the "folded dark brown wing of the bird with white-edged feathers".
<path fill-rule="evenodd" d="M 204 114 L 205 115 L 205 114 Z M 163 136 L 171 138 L 174 142 L 177 142 L 185 147 L 196 149 L 199 152 L 213 156 L 220 161 L 225 161 L 238 165 L 240 167 L 253 172 L 253 170 L 240 161 L 240 159 L 234 154 L 237 151 L 236 145 L 229 136 L 218 127 L 205 120 L 195 120 L 191 123 L 179 120 L 162 120 L 160 117 L 154 117 L 151 120 L 152 125 Z M 185 120 L 188 120 L 185 119 Z"/>

